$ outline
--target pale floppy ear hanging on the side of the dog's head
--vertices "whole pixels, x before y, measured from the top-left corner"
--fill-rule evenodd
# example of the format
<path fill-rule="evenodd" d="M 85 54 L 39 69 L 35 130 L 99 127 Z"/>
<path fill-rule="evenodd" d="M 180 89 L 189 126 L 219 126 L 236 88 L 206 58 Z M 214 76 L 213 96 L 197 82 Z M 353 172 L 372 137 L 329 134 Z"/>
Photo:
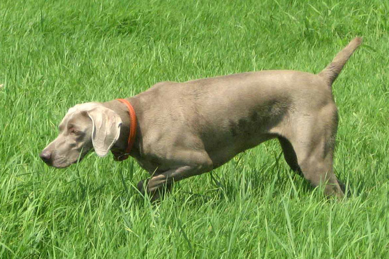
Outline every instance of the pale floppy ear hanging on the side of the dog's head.
<path fill-rule="evenodd" d="M 106 156 L 113 144 L 119 139 L 122 119 L 111 109 L 97 106 L 88 111 L 92 120 L 92 144 L 99 156 Z"/>

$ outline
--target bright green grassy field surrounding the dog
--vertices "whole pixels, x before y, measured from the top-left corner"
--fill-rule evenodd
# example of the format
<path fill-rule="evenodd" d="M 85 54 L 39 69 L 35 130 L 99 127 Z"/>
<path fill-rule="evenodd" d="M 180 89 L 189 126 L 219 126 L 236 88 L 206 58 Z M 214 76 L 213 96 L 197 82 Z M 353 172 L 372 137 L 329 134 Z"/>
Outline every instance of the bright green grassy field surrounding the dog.
<path fill-rule="evenodd" d="M 389 2 L 0 1 L 0 258 L 389 258 Z M 363 36 L 333 85 L 327 199 L 277 141 L 151 204 L 133 159 L 60 170 L 39 152 L 74 104 L 160 81 L 261 69 L 317 73 Z M 153 104 L 150 104 L 153 105 Z"/>

